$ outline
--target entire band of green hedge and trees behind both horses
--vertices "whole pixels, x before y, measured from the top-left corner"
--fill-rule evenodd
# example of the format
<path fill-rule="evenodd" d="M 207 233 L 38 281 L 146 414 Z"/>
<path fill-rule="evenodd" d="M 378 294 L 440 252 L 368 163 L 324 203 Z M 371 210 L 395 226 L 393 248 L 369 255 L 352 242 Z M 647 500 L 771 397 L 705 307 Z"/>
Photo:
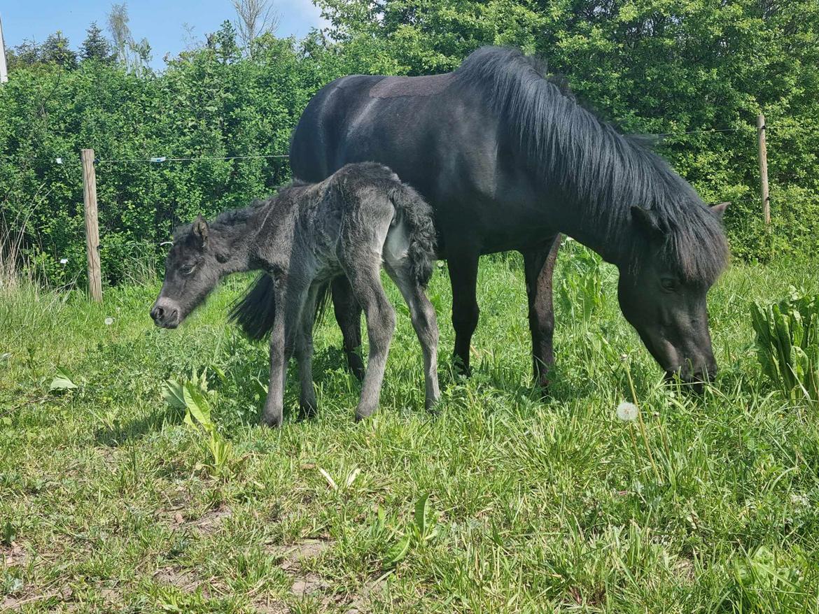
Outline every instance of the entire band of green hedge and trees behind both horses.
<path fill-rule="evenodd" d="M 265 36 L 251 58 L 229 27 L 161 74 L 83 61 L 16 65 L 0 87 L 0 232 L 52 282 L 84 277 L 79 150 L 93 147 L 107 283 L 154 266 L 174 224 L 246 205 L 287 180 L 312 94 L 342 74 L 451 70 L 482 44 L 515 44 L 658 149 L 706 201 L 733 201 L 735 257 L 819 249 L 819 3 L 320 0 L 334 42 Z M 764 5 L 764 6 L 763 6 Z M 755 121 L 767 115 L 773 223 L 758 203 Z M 702 129 L 729 129 L 703 133 Z M 688 133 L 694 131 L 694 133 Z M 688 133 L 688 134 L 686 134 Z M 55 163 L 62 157 L 63 164 Z M 68 259 L 65 266 L 61 259 Z"/>

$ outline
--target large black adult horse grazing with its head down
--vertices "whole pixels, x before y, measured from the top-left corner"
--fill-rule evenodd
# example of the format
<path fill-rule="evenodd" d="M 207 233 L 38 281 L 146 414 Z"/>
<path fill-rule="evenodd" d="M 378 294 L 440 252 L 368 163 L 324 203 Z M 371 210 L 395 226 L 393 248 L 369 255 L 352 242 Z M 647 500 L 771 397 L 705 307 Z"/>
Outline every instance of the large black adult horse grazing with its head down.
<path fill-rule="evenodd" d="M 580 106 L 536 59 L 484 47 L 458 70 L 427 77 L 353 75 L 317 93 L 293 136 L 290 162 L 320 181 L 348 162 L 376 160 L 435 210 L 438 255 L 449 264 L 455 356 L 468 370 L 477 325 L 478 257 L 523 254 L 536 378 L 554 362 L 552 273 L 559 233 L 616 264 L 622 313 L 668 375 L 714 376 L 706 294 L 728 247 L 722 208 L 639 139 Z M 251 336 L 269 278 L 244 299 Z M 360 308 L 346 282 L 333 301 L 351 367 L 360 372 Z M 253 318 L 242 318 L 242 307 Z"/>

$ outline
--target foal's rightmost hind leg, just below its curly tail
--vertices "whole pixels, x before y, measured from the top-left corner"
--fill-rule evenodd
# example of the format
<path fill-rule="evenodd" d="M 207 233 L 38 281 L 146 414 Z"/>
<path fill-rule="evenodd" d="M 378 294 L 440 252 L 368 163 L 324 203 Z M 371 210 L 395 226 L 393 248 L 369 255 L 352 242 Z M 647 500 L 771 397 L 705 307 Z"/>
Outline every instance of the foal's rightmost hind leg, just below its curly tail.
<path fill-rule="evenodd" d="M 435 308 L 423 287 L 416 282 L 405 264 L 386 263 L 387 273 L 404 296 L 412 325 L 423 351 L 424 405 L 431 410 L 441 391 L 438 389 L 438 321 Z"/>

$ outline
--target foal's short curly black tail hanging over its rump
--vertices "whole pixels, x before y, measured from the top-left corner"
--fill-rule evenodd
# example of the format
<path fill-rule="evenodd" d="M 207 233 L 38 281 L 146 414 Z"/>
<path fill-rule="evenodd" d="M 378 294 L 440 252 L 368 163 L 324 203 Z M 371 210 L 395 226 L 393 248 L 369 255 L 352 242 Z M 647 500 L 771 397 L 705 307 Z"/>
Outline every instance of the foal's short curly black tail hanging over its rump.
<path fill-rule="evenodd" d="M 427 287 L 435 262 L 436 234 L 432 207 L 418 192 L 405 183 L 396 182 L 389 192 L 392 205 L 409 228 L 409 266 L 421 287 Z"/>

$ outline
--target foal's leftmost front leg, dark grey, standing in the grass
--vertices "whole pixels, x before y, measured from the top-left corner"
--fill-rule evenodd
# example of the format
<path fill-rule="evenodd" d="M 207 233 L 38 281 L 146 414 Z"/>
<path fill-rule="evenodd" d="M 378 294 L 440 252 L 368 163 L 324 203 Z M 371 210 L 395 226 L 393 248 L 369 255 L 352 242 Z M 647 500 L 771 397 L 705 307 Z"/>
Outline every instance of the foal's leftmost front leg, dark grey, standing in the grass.
<path fill-rule="evenodd" d="M 262 421 L 269 427 L 281 427 L 284 409 L 284 386 L 287 362 L 293 354 L 301 311 L 308 284 L 285 282 L 274 278 L 276 315 L 270 333 L 270 381 Z"/>

